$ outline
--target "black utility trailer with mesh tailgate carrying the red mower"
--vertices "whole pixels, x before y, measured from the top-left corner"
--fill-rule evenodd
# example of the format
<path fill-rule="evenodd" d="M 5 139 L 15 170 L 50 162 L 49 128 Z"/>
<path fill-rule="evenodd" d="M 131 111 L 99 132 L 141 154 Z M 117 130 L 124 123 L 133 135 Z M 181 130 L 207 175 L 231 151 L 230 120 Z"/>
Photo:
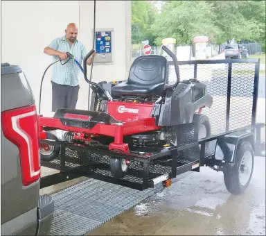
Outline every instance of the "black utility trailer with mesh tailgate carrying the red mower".
<path fill-rule="evenodd" d="M 265 151 L 265 143 L 260 140 L 260 129 L 265 124 L 256 124 L 259 59 L 180 61 L 178 65 L 181 83 L 193 83 L 190 78 L 197 78 L 197 81 L 206 84 L 213 98 L 210 109 L 202 106 L 195 111 L 195 114 L 209 118 L 211 129 L 207 137 L 195 141 L 195 133 L 189 128 L 186 130 L 184 124 L 185 128 L 177 135 L 175 145 L 165 145 L 162 149 L 152 147 L 145 152 L 123 153 L 78 142 L 73 144 L 67 137 L 60 140 L 43 136 L 42 149 L 57 149 L 60 153 L 53 160 L 42 160 L 42 166 L 60 170 L 60 173 L 43 177 L 41 188 L 80 176 L 139 190 L 158 184 L 168 187 L 171 179 L 177 175 L 186 171 L 199 172 L 200 167 L 208 166 L 224 172 L 224 183 L 229 192 L 244 192 L 252 176 L 254 156 L 263 155 Z M 175 83 L 175 70 L 172 69 L 176 66 L 175 60 L 168 61 L 167 66 L 166 83 Z M 96 110 L 97 94 L 94 92 L 92 95 L 90 110 Z M 75 113 L 78 116 L 86 114 Z M 64 115 L 53 118 L 40 116 L 40 130 L 49 132 L 59 129 L 65 130 L 67 134 L 80 130 L 80 126 L 66 126 L 67 123 L 62 122 L 66 120 L 62 117 Z M 53 122 L 55 118 L 57 122 Z M 75 135 L 77 137 L 77 133 Z M 121 178 L 112 176 L 112 158 L 127 160 L 127 171 Z"/>

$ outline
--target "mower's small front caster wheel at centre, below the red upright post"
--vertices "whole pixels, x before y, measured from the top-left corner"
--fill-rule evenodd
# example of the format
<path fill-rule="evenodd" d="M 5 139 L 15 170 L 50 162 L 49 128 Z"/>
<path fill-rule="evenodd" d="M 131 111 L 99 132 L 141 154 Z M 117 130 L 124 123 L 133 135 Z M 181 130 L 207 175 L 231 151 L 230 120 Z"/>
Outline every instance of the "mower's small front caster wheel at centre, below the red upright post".
<path fill-rule="evenodd" d="M 128 171 L 128 162 L 121 158 L 110 158 L 110 171 L 114 178 L 123 178 Z"/>

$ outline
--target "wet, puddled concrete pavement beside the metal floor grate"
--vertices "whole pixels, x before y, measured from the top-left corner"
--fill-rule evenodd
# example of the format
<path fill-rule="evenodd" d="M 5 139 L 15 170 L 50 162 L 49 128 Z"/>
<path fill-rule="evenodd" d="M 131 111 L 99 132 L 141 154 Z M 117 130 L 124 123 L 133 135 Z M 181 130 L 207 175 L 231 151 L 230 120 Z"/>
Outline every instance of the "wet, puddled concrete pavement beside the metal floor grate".
<path fill-rule="evenodd" d="M 88 235 L 265 235 L 265 158 L 256 157 L 245 192 L 227 192 L 223 174 L 202 167 Z"/>

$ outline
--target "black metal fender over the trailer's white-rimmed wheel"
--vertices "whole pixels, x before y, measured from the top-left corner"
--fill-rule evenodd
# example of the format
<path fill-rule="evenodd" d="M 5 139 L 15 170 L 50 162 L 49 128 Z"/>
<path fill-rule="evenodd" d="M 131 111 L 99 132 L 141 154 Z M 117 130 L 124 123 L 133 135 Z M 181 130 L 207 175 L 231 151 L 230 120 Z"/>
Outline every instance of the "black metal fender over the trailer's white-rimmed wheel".
<path fill-rule="evenodd" d="M 236 131 L 220 137 L 216 142 L 215 160 L 234 162 L 238 144 L 244 140 L 250 142 L 255 150 L 254 133 L 251 130 Z"/>

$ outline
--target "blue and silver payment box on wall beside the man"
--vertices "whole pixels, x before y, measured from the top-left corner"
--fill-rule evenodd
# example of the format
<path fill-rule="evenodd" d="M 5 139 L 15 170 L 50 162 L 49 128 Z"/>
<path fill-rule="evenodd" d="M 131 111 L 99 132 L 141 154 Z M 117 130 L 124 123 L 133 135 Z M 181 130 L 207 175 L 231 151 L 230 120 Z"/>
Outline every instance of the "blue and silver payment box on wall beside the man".
<path fill-rule="evenodd" d="M 113 28 L 96 29 L 95 31 L 95 49 L 96 56 L 94 63 L 110 64 L 112 63 L 112 34 Z"/>

